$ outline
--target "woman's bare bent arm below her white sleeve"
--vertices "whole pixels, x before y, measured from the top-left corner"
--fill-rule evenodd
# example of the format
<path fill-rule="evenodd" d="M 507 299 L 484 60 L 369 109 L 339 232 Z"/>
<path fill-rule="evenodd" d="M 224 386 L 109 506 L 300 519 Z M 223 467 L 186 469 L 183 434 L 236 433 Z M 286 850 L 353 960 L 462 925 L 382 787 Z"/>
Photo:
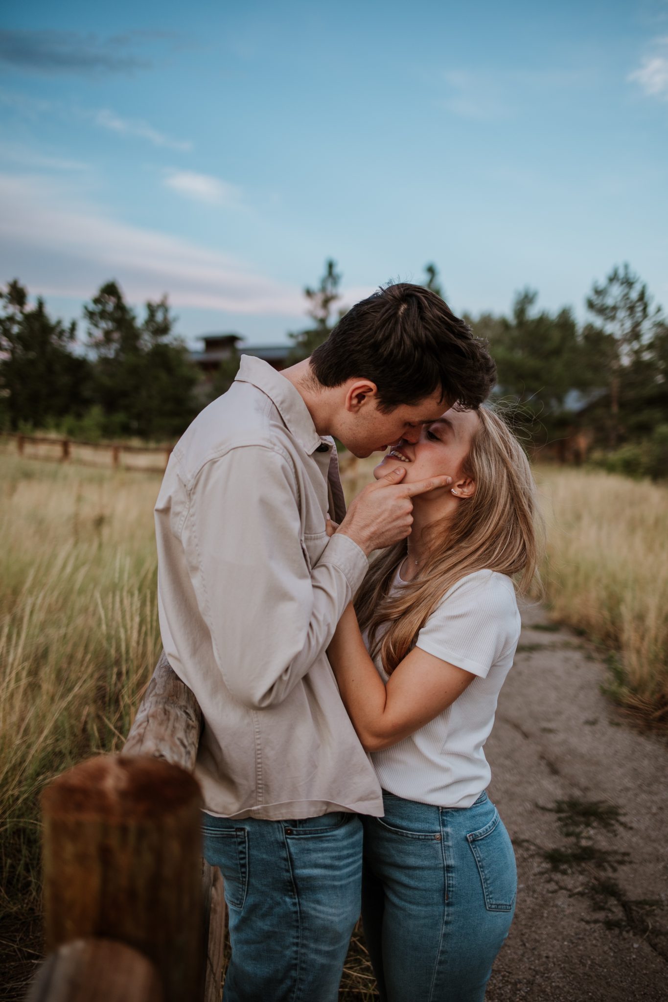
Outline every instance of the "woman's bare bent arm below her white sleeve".
<path fill-rule="evenodd" d="M 414 647 L 385 685 L 365 647 L 353 604 L 337 626 L 327 656 L 367 752 L 380 752 L 414 733 L 450 706 L 476 677 Z"/>

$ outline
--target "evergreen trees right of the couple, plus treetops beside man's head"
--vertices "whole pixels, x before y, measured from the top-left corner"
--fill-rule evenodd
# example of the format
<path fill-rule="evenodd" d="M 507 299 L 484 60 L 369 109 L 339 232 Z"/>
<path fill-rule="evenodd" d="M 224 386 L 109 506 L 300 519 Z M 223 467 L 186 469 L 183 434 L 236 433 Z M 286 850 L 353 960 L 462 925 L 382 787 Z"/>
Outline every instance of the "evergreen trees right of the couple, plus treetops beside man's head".
<path fill-rule="evenodd" d="M 342 316 L 341 275 L 327 262 L 320 284 L 304 290 L 313 324 L 290 335 L 293 358 L 306 358 Z M 422 283 L 447 299 L 438 269 Z M 466 316 L 497 363 L 494 400 L 528 445 L 557 458 L 587 455 L 610 469 L 668 476 L 668 321 L 628 265 L 594 283 L 579 323 L 570 307 L 538 306 L 538 293 L 515 297 L 510 316 Z M 547 447 L 547 449 L 546 449 Z"/>

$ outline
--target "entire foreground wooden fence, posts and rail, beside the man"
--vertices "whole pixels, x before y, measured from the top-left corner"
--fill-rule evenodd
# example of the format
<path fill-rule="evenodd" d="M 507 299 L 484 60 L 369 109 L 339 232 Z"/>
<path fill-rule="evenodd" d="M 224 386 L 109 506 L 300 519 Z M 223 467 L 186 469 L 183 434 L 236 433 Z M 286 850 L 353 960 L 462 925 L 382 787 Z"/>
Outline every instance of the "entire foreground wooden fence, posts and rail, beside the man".
<path fill-rule="evenodd" d="M 219 1002 L 225 905 L 200 857 L 201 725 L 163 652 L 120 755 L 43 792 L 47 957 L 27 1002 Z"/>

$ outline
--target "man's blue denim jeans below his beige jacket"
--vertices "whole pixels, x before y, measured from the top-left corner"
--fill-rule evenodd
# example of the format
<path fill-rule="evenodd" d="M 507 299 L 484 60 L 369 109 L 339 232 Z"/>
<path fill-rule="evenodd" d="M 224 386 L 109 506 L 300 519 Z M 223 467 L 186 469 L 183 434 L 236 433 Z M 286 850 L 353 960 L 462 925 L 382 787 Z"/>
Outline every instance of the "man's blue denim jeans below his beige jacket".
<path fill-rule="evenodd" d="M 223 1002 L 336 1002 L 361 910 L 358 816 L 203 819 L 229 914 Z"/>

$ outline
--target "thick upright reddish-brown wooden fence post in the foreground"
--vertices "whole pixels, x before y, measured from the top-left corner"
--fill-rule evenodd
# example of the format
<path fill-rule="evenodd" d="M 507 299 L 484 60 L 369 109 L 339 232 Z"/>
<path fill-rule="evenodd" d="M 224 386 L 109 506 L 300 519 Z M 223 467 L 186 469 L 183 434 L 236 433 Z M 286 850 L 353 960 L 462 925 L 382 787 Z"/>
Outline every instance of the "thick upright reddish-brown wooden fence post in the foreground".
<path fill-rule="evenodd" d="M 42 794 L 47 952 L 103 937 L 157 968 L 165 1002 L 201 997 L 200 794 L 158 759 L 100 756 Z"/>

